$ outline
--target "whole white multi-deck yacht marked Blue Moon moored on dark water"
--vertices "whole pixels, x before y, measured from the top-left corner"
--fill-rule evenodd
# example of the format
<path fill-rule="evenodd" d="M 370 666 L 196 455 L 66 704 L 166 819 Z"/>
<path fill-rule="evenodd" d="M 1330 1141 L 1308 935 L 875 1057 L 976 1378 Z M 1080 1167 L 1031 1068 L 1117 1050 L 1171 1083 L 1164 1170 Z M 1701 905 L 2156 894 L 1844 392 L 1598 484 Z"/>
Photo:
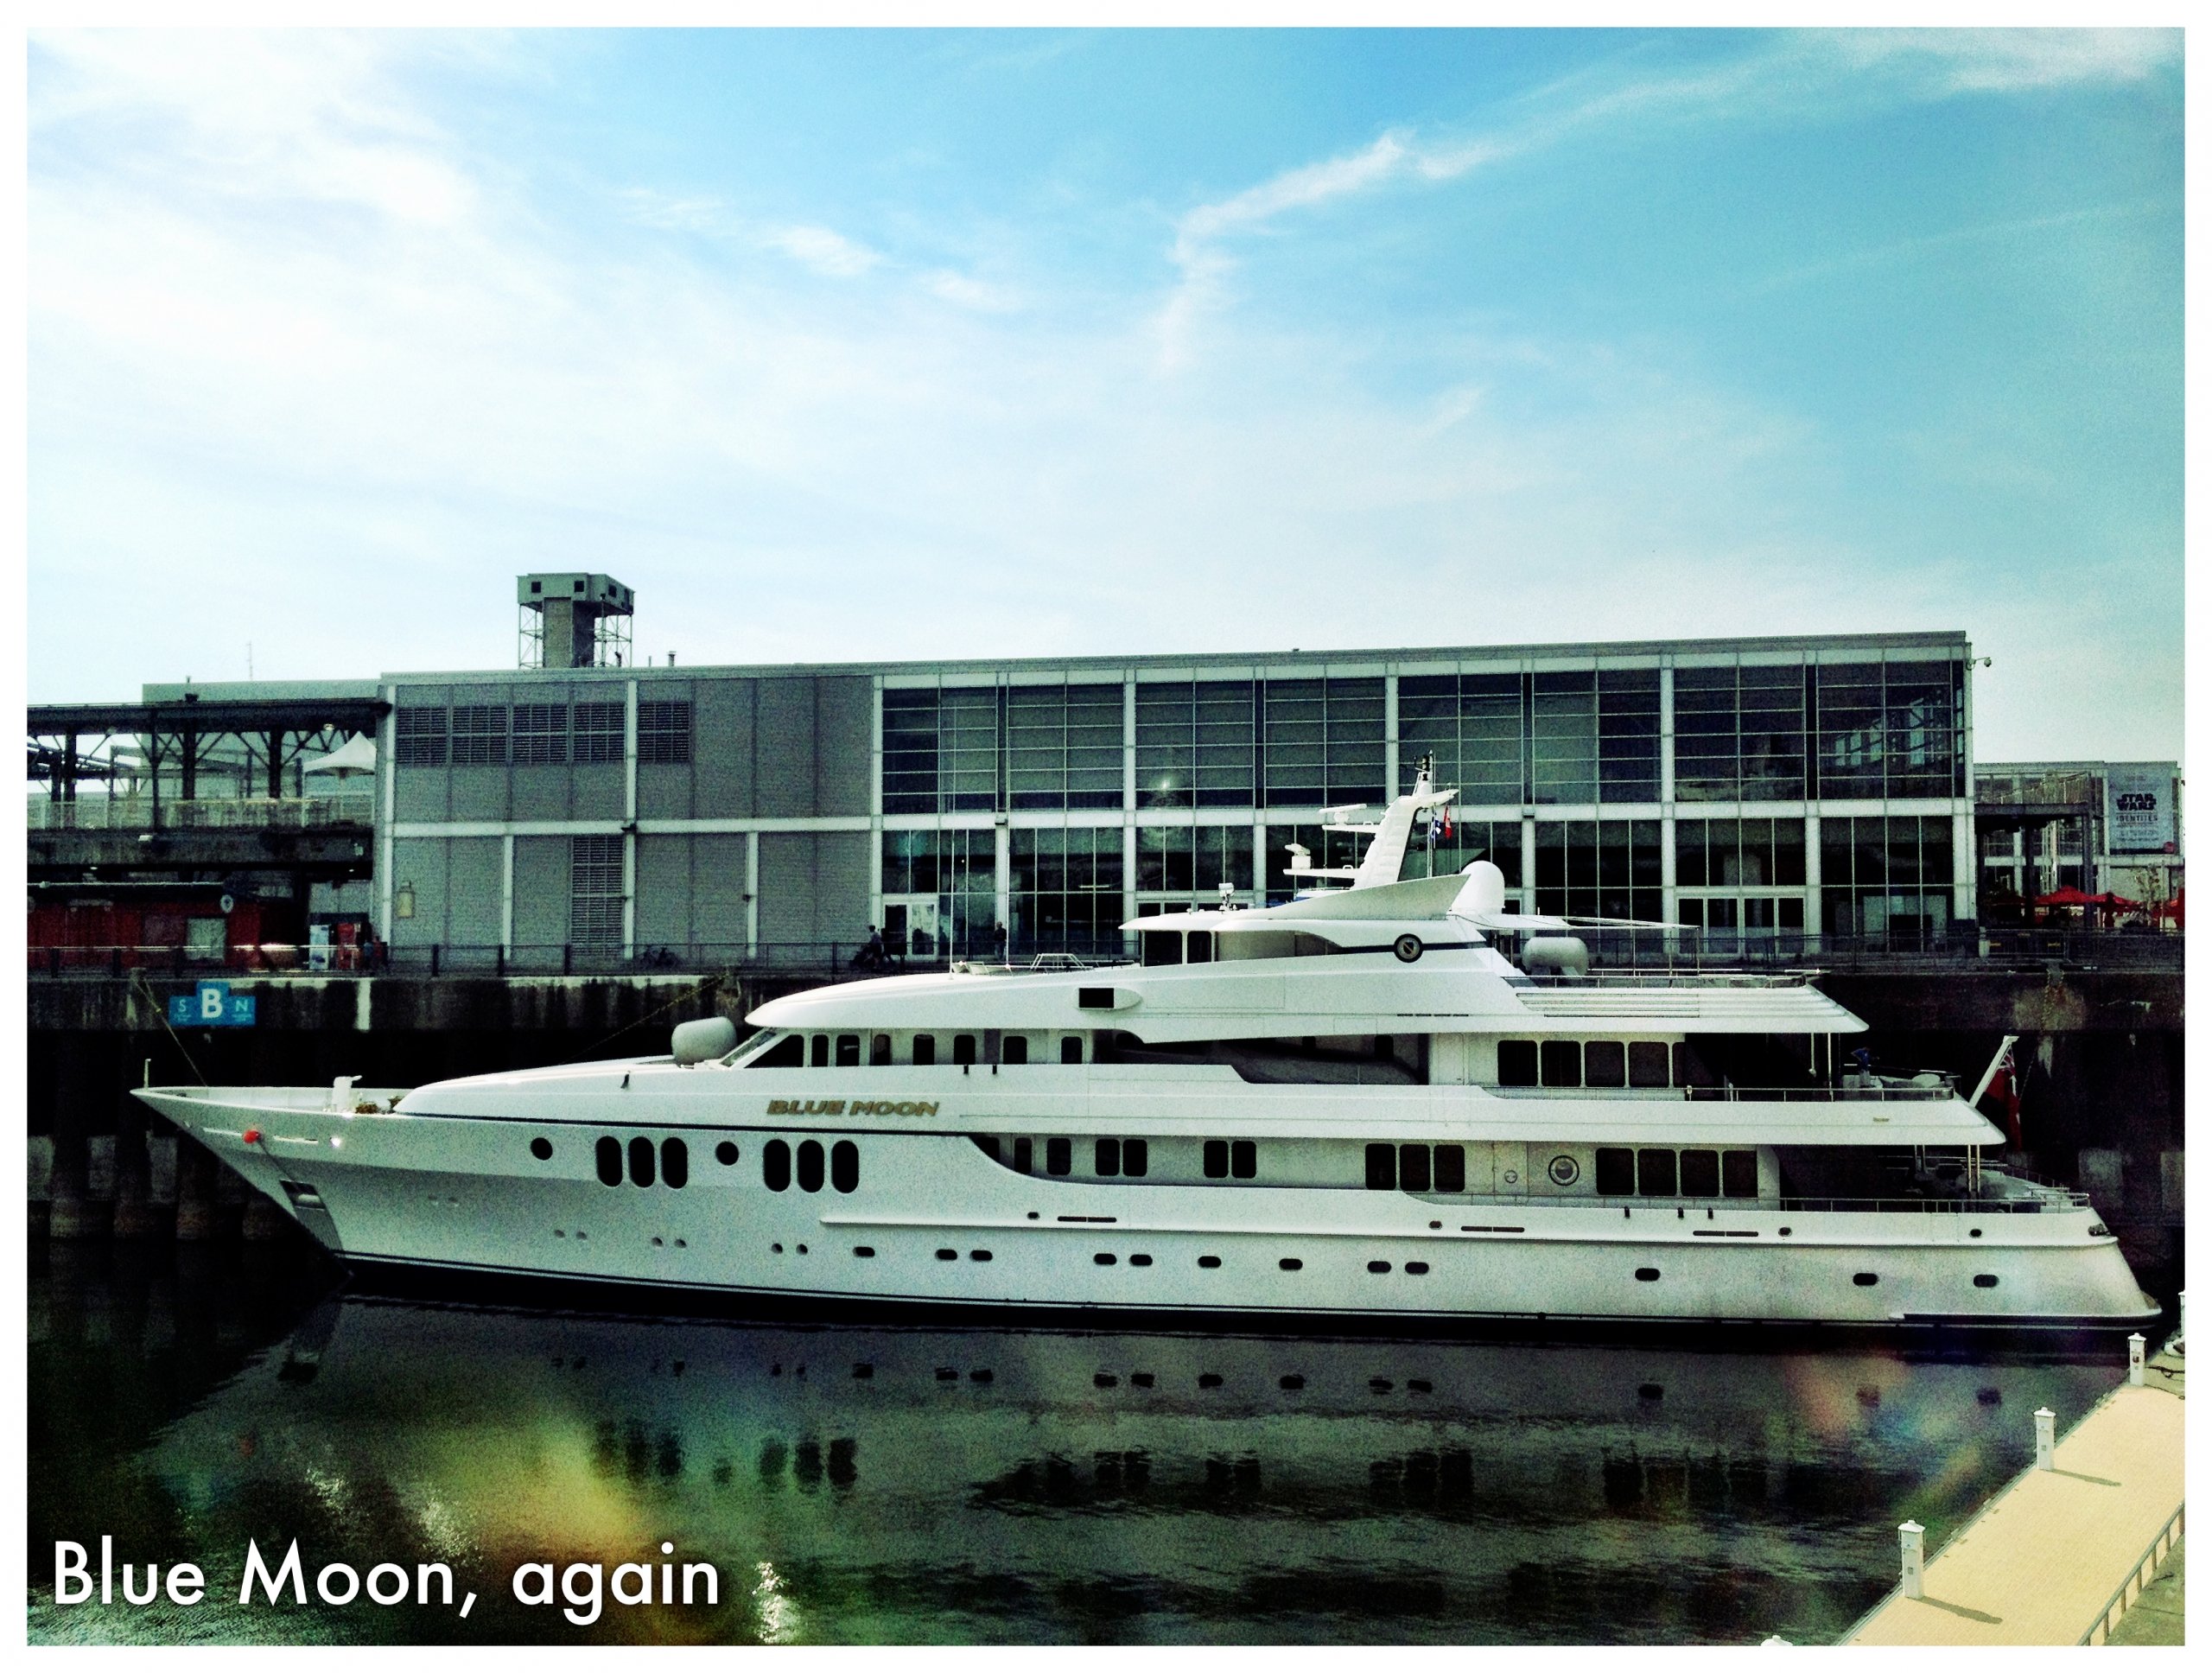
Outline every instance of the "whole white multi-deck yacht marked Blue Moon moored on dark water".
<path fill-rule="evenodd" d="M 1358 867 L 1294 856 L 1345 887 L 1126 925 L 1139 963 L 838 983 L 743 1045 L 407 1093 L 139 1098 L 358 1264 L 1294 1328 L 2157 1317 L 1951 1078 L 1838 1073 L 1865 1025 L 1809 974 L 1590 969 L 1486 861 L 1398 881 L 1451 794 L 1422 775 Z"/>

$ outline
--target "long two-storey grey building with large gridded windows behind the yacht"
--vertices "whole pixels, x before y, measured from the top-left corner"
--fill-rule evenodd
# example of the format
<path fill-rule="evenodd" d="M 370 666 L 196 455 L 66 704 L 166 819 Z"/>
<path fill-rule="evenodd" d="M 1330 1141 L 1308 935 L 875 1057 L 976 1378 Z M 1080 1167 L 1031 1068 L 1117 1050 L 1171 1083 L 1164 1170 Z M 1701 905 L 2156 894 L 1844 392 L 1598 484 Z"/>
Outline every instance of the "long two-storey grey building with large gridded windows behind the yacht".
<path fill-rule="evenodd" d="M 1332 810 L 1380 814 L 1429 757 L 1458 797 L 1407 874 L 1489 859 L 1526 910 L 1708 938 L 1927 938 L 1986 861 L 1969 675 L 1964 635 L 1896 633 L 387 677 L 378 876 L 425 903 L 403 943 L 1106 952 L 1221 885 L 1287 898 L 1294 843 L 1352 863 Z"/>

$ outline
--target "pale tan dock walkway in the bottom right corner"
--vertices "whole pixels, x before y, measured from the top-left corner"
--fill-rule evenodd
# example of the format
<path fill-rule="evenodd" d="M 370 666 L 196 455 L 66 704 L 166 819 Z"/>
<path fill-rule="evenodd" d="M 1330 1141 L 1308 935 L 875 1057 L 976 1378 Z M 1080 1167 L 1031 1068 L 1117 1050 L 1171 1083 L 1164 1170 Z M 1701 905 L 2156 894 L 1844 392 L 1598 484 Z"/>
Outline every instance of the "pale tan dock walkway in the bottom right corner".
<path fill-rule="evenodd" d="M 1927 1596 L 1891 1591 L 1845 1642 L 2079 1644 L 2101 1629 L 2130 1565 L 2168 1525 L 2181 1531 L 2181 1361 L 2161 1354 L 2143 1388 L 2106 1394 L 2059 1438 L 2053 1469 L 2026 1469 L 1936 1553 Z"/>

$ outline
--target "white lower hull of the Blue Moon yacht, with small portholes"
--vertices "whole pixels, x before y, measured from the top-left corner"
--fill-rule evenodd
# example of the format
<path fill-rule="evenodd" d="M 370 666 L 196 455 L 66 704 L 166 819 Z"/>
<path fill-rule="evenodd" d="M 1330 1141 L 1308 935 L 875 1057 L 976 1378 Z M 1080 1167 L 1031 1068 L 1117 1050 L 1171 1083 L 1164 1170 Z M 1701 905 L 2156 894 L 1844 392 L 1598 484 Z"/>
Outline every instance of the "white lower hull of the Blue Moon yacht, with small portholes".
<path fill-rule="evenodd" d="M 1013 1173 L 949 1131 L 854 1135 L 849 1191 L 765 1188 L 754 1126 L 409 1115 L 380 1093 L 146 1089 L 352 1264 L 732 1303 L 1323 1323 L 2139 1328 L 2159 1317 L 2077 1204 L 1805 1213 Z M 805 1137 L 803 1129 L 781 1129 Z M 602 1142 L 688 1155 L 604 1184 Z M 714 1160 L 721 1142 L 741 1162 Z M 538 1155 L 538 1144 L 546 1155 Z"/>

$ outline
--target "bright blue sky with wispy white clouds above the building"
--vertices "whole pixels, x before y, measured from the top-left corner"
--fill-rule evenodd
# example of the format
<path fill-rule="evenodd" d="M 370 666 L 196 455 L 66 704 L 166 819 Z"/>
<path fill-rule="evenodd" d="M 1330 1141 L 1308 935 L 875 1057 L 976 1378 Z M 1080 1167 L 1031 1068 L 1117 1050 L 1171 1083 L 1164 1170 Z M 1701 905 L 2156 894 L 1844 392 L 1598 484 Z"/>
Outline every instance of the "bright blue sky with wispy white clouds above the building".
<path fill-rule="evenodd" d="M 1966 628 L 1982 759 L 2181 750 L 2172 31 L 29 64 L 33 702 L 604 569 L 684 664 Z"/>

